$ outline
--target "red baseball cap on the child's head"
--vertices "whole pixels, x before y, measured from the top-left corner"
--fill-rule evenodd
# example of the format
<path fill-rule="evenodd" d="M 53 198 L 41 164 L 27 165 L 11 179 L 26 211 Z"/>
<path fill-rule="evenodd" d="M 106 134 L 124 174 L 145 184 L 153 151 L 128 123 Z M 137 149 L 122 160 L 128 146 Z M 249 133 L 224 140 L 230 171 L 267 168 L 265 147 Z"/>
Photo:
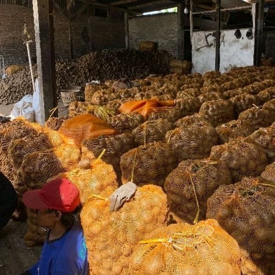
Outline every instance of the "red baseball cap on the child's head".
<path fill-rule="evenodd" d="M 80 204 L 78 188 L 66 179 L 55 179 L 41 189 L 24 193 L 23 203 L 31 209 L 72 212 Z"/>

